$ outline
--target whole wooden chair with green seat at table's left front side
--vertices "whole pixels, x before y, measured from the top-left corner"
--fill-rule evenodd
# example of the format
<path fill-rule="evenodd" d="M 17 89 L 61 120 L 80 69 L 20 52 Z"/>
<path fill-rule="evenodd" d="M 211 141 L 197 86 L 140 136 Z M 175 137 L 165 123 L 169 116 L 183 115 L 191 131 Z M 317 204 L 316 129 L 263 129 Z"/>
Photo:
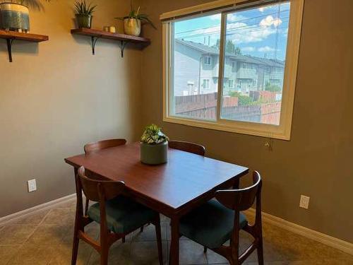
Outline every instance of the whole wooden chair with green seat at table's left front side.
<path fill-rule="evenodd" d="M 160 214 L 122 196 L 124 188 L 124 182 L 90 179 L 85 176 L 85 168 L 80 167 L 76 174 L 77 206 L 71 265 L 76 264 L 79 240 L 92 245 L 100 253 L 100 264 L 107 265 L 111 245 L 146 223 L 155 225 L 159 261 L 163 264 Z M 88 216 L 83 216 L 82 192 L 91 201 L 98 202 L 90 206 Z M 100 242 L 85 233 L 85 226 L 92 221 L 100 223 Z"/>

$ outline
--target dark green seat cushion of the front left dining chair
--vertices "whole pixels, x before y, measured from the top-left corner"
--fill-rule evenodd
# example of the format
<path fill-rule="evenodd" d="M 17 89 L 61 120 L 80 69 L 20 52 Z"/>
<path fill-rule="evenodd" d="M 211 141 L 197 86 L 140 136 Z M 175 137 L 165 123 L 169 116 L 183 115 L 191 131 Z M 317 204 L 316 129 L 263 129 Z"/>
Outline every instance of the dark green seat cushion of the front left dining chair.
<path fill-rule="evenodd" d="M 136 230 L 146 223 L 150 223 L 157 215 L 150 208 L 128 199 L 117 196 L 105 203 L 107 225 L 109 230 L 116 233 L 127 233 Z M 88 216 L 100 223 L 100 204 L 93 204 L 88 209 Z"/>

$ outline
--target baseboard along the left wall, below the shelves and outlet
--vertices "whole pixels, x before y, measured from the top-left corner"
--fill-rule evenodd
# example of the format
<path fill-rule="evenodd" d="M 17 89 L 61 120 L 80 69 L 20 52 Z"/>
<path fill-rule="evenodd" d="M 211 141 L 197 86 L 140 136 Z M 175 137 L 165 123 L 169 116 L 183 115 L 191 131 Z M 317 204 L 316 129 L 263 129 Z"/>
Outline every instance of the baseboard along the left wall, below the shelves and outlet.
<path fill-rule="evenodd" d="M 37 205 L 35 207 L 25 209 L 23 211 L 19 211 L 17 213 L 12 213 L 12 214 L 10 214 L 8 216 L 1 217 L 0 218 L 0 225 L 4 225 L 4 224 L 9 223 L 9 222 L 11 222 L 13 220 L 16 220 L 16 219 L 19 219 L 19 218 L 23 218 L 23 217 L 28 216 L 28 215 L 36 212 L 36 211 L 44 210 L 46 208 L 52 208 L 54 206 L 58 206 L 59 204 L 64 204 L 64 203 L 66 203 L 68 201 L 71 201 L 71 200 L 73 200 L 75 198 L 76 198 L 76 193 L 68 195 L 68 196 L 61 197 L 59 199 L 55 199 L 54 201 L 48 201 L 45 204 L 40 204 L 40 205 Z"/>

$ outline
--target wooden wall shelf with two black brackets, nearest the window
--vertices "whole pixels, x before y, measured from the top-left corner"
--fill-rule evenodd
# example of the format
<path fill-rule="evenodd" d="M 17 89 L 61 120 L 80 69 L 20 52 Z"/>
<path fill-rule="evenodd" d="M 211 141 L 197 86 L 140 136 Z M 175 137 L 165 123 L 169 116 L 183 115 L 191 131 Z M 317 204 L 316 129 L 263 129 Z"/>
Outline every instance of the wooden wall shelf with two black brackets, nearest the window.
<path fill-rule="evenodd" d="M 78 28 L 71 30 L 71 34 L 85 35 L 91 37 L 92 54 L 95 54 L 95 44 L 98 39 L 118 40 L 121 49 L 121 57 L 124 57 L 124 49 L 128 42 L 143 44 L 143 47 L 150 45 L 150 40 L 145 37 L 136 37 L 120 33 L 109 33 L 104 30 L 92 30 L 90 28 Z"/>

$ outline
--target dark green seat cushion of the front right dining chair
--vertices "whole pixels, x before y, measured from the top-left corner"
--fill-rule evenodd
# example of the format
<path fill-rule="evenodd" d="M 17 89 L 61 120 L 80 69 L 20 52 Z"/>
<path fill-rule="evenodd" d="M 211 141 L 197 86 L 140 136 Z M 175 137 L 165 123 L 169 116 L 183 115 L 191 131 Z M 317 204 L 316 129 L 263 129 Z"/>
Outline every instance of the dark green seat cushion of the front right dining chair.
<path fill-rule="evenodd" d="M 240 228 L 248 221 L 243 213 L 239 215 Z M 210 249 L 220 247 L 230 239 L 234 226 L 234 211 L 216 200 L 199 206 L 180 220 L 179 232 Z"/>

